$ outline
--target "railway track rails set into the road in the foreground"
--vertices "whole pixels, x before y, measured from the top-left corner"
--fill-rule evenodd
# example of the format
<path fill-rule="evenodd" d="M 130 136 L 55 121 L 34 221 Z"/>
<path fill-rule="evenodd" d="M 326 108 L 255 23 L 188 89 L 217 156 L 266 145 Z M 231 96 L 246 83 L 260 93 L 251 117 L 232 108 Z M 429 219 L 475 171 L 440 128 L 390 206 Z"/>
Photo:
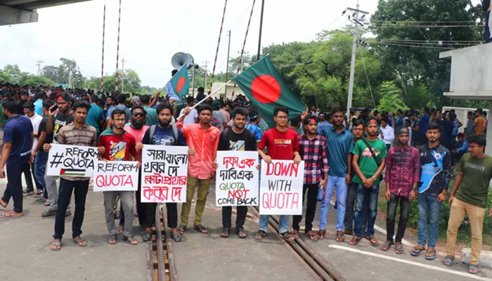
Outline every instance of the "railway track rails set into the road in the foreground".
<path fill-rule="evenodd" d="M 258 207 L 251 207 L 250 212 L 259 217 Z M 270 226 L 278 232 L 278 216 L 270 216 Z M 178 281 L 176 266 L 174 266 L 174 254 L 172 240 L 166 231 L 167 217 L 162 212 L 162 205 L 157 204 L 155 211 L 155 228 L 153 228 L 152 246 L 149 247 L 153 281 Z M 280 238 L 281 239 L 281 238 Z M 286 242 L 306 264 L 324 281 L 345 281 L 344 278 L 321 259 L 306 242 L 301 239 Z"/>

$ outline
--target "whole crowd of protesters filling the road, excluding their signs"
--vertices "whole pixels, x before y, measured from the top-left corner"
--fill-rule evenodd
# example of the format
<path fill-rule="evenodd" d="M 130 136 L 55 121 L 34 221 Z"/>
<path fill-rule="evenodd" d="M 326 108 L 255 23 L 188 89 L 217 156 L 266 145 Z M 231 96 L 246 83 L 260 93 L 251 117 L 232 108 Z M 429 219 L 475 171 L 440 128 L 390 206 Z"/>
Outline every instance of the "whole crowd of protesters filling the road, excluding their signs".
<path fill-rule="evenodd" d="M 377 112 L 362 110 L 357 114 L 339 107 L 330 114 L 316 107 L 289 120 L 289 110 L 276 107 L 275 127 L 268 128 L 261 114 L 245 96 L 234 100 L 207 98 L 204 89 L 198 96 L 188 96 L 185 103 L 173 103 L 160 92 L 154 95 L 119 94 L 116 96 L 60 87 L 20 87 L 0 84 L 1 141 L 0 177 L 7 177 L 2 207 L 13 200 L 13 210 L 1 216 L 22 216 L 22 196 L 33 195 L 46 205 L 41 216 L 56 216 L 51 250 L 62 247 L 65 216 L 72 215 L 70 197 L 75 195 L 72 221 L 74 242 L 85 247 L 82 223 L 90 178 L 46 176 L 46 159 L 51 143 L 97 147 L 101 159 L 134 160 L 141 164 L 143 145 L 188 146 L 188 184 L 186 202 L 178 220 L 176 203 L 167 203 L 168 226 L 172 239 L 181 241 L 195 190 L 193 229 L 208 233 L 202 225 L 209 185 L 217 167 L 217 150 L 257 151 L 264 162 L 272 159 L 304 161 L 303 202 L 306 204 L 304 233 L 311 240 L 326 235 L 327 216 L 335 193 L 337 242 L 351 235 L 349 244 L 362 239 L 380 244 L 375 238 L 375 221 L 380 186 L 385 186 L 387 239 L 382 251 L 394 245 L 403 254 L 403 236 L 410 212 L 410 201 L 418 200 L 418 244 L 410 254 L 425 251 L 425 259 L 436 257 L 436 242 L 441 204 L 448 200 L 451 214 L 447 230 L 447 254 L 443 263 L 453 265 L 458 227 L 465 218 L 472 226 L 470 273 L 478 273 L 481 234 L 488 184 L 492 178 L 492 157 L 485 155 L 485 112 L 469 112 L 465 123 L 453 110 L 439 112 Z M 205 101 L 198 107 L 195 103 Z M 458 133 L 465 126 L 465 133 Z M 466 137 L 466 141 L 465 141 Z M 114 145 L 126 149 L 115 155 Z M 4 167 L 6 166 L 6 175 Z M 458 171 L 448 192 L 452 166 Z M 259 169 L 259 167 L 257 167 Z M 27 187 L 22 190 L 22 174 Z M 34 178 L 34 184 L 32 183 Z M 384 183 L 383 183 L 384 182 Z M 138 191 L 104 192 L 108 243 L 117 243 L 117 235 L 129 244 L 137 244 L 132 233 L 134 205 L 138 223 L 144 230 L 143 241 L 151 240 L 155 203 L 142 203 Z M 318 190 L 323 197 L 318 197 Z M 135 197 L 136 196 L 136 200 Z M 305 200 L 304 200 L 305 199 Z M 317 203 L 319 230 L 313 230 Z M 117 211 L 117 202 L 121 208 Z M 395 237 L 396 210 L 400 207 Z M 232 207 L 222 208 L 221 237 L 232 229 Z M 246 238 L 244 230 L 247 207 L 237 207 L 235 234 Z M 492 215 L 492 213 L 491 213 Z M 119 226 L 115 224 L 119 218 Z M 302 216 L 280 216 L 279 233 L 288 241 L 299 237 Z M 268 233 L 268 216 L 260 216 L 254 237 L 261 240 Z"/>

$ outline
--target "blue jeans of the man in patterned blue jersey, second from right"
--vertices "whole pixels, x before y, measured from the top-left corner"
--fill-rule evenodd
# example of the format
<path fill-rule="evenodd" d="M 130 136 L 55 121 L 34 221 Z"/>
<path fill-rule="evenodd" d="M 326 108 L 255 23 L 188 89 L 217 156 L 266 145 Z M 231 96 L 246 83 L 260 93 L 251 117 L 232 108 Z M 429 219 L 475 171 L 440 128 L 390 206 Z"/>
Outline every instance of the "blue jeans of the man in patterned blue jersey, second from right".
<path fill-rule="evenodd" d="M 429 244 L 427 247 L 436 247 L 440 217 L 441 202 L 437 201 L 437 196 L 420 193 L 418 195 L 418 244 L 424 247 L 427 244 L 427 222 L 429 222 Z"/>

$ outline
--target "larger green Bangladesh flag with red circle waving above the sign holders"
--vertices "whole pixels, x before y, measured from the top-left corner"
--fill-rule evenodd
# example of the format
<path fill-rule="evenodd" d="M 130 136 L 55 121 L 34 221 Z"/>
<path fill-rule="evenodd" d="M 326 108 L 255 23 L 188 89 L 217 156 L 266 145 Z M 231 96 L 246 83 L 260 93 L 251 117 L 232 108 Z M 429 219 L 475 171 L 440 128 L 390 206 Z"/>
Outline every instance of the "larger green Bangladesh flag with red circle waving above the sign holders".
<path fill-rule="evenodd" d="M 270 128 L 276 126 L 273 120 L 275 107 L 287 107 L 289 119 L 301 115 L 306 110 L 306 105 L 290 91 L 268 55 L 248 67 L 233 80 L 240 86 L 254 107 L 257 107 Z"/>

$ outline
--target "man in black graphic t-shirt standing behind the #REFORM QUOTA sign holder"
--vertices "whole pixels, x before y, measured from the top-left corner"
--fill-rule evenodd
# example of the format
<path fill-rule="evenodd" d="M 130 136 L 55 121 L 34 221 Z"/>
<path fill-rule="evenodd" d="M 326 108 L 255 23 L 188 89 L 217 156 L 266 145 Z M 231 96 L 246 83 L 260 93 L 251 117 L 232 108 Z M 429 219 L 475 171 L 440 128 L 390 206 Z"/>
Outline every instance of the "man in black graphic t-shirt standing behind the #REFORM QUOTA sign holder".
<path fill-rule="evenodd" d="M 53 138 L 52 143 L 57 142 L 57 136 L 60 129 L 74 121 L 74 116 L 70 109 L 70 96 L 68 96 L 67 93 L 60 93 L 56 97 L 56 105 L 58 105 L 58 115 L 54 117 L 56 110 L 53 110 L 53 105 L 47 112 L 48 119 L 46 120 L 46 136 L 51 134 Z M 58 188 L 56 186 L 56 178 L 58 178 L 58 176 L 44 176 L 50 208 L 44 211 L 41 216 L 54 216 L 56 214 L 56 209 L 58 209 Z M 70 210 L 70 206 L 67 210 Z M 68 215 L 70 215 L 70 211 L 67 211 L 67 216 Z"/>

